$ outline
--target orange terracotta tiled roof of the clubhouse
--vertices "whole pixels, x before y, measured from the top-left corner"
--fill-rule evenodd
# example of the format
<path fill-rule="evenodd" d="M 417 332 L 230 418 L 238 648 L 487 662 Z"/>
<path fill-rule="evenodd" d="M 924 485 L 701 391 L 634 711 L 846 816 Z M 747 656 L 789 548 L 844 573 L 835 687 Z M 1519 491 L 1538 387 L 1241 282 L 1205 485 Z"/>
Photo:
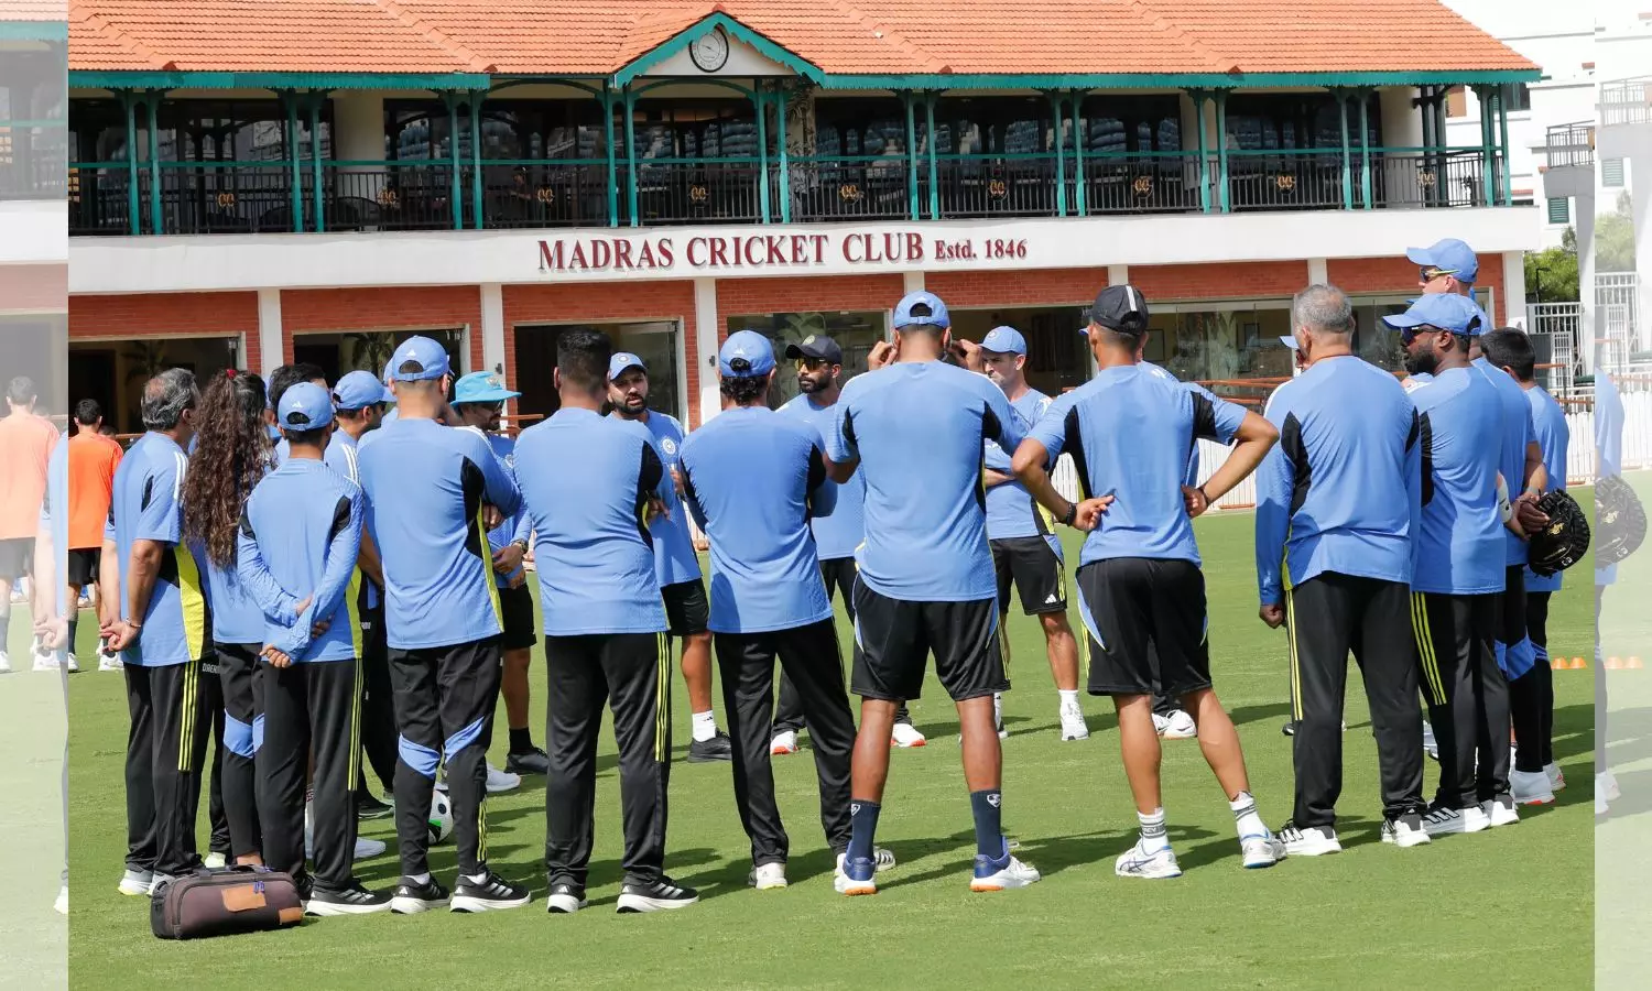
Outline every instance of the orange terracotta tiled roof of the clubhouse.
<path fill-rule="evenodd" d="M 69 0 L 69 10 L 76 69 L 608 76 L 715 13 L 828 74 L 1535 68 L 1437 0 Z"/>

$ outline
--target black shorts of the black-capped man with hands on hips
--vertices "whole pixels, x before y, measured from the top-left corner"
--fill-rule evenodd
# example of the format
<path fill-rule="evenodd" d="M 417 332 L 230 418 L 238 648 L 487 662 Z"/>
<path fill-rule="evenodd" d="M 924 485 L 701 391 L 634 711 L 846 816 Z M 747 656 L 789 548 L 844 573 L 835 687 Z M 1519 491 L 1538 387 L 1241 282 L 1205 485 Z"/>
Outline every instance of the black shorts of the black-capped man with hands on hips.
<path fill-rule="evenodd" d="M 1204 573 L 1193 562 L 1108 558 L 1079 568 L 1092 695 L 1180 699 L 1211 687 Z M 1156 657 L 1156 664 L 1155 664 Z"/>

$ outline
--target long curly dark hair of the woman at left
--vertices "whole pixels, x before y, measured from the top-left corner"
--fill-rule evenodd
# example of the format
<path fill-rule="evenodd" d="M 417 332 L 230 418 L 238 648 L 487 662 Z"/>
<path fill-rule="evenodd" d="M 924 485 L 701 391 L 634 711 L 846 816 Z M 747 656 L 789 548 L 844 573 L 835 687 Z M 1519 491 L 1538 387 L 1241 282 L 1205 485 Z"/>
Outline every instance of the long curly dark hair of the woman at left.
<path fill-rule="evenodd" d="M 220 375 L 202 396 L 195 453 L 183 477 L 183 533 L 218 567 L 235 563 L 241 509 L 269 469 L 264 382 L 251 372 Z"/>

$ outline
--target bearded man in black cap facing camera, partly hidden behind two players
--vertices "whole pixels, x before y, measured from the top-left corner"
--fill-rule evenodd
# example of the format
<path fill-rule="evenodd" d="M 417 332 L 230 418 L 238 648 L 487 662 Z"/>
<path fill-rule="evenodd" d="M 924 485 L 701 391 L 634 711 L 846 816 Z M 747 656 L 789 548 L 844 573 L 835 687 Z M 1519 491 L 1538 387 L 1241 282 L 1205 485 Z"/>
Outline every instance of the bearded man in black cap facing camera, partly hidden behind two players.
<path fill-rule="evenodd" d="M 801 416 L 813 424 L 821 436 L 831 429 L 838 395 L 843 391 L 843 349 L 831 337 L 805 337 L 801 344 L 786 345 L 786 358 L 796 362 L 798 390 L 801 395 L 780 408 L 781 413 Z M 814 548 L 819 553 L 821 578 L 826 581 L 826 598 L 831 600 L 834 590 L 843 596 L 843 608 L 854 624 L 854 548 L 866 535 L 862 507 L 866 504 L 866 479 L 859 474 L 847 482 L 826 481 L 833 489 L 833 499 L 823 499 L 833 509 L 824 515 L 809 519 L 809 530 L 814 535 Z M 770 753 L 796 753 L 798 732 L 803 728 L 803 700 L 791 679 L 780 676 L 780 705 L 775 709 L 775 737 L 770 742 Z M 912 714 L 905 704 L 895 712 L 895 728 L 889 738 L 895 747 L 923 747 L 923 733 L 912 725 Z"/>

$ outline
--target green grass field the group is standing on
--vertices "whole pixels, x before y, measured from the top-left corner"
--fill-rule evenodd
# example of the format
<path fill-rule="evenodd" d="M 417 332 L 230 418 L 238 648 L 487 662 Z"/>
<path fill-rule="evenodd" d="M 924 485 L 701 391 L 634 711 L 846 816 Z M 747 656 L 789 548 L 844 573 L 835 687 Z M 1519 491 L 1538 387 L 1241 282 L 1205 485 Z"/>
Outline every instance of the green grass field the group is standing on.
<path fill-rule="evenodd" d="M 1198 524 L 1216 687 L 1239 723 L 1262 814 L 1277 827 L 1290 814 L 1292 796 L 1290 740 L 1279 732 L 1287 712 L 1285 641 L 1256 618 L 1251 527 L 1249 514 Z M 1072 550 L 1069 545 L 1069 560 L 1075 560 Z M 1550 633 L 1556 654 L 1591 654 L 1588 581 L 1579 568 L 1555 601 Z M 119 676 L 78 674 L 71 679 L 73 979 L 99 988 L 317 988 L 383 979 L 408 991 L 479 979 L 506 988 L 1350 988 L 1396 978 L 1450 988 L 1535 988 L 1593 979 L 1588 672 L 1555 677 L 1555 750 L 1571 781 L 1559 803 L 1528 813 L 1510 829 L 1446 837 L 1412 851 L 1378 842 L 1376 756 L 1356 676 L 1340 804 L 1346 849 L 1340 856 L 1242 870 L 1232 816 L 1198 745 L 1170 742 L 1165 806 L 1186 874 L 1173 882 L 1140 882 L 1112 870 L 1113 857 L 1133 842 L 1135 816 L 1110 704 L 1087 699 L 1090 740 L 1061 743 L 1037 626 L 1016 614 L 1009 634 L 1016 687 L 1004 704 L 1011 732 L 1004 743 L 1004 826 L 1021 841 L 1023 859 L 1044 872 L 1044 882 L 1032 889 L 968 892 L 973 834 L 957 720 L 932 679 L 912 707 L 930 745 L 892 755 L 879 841 L 894 849 L 899 865 L 881 875 L 882 892 L 876 899 L 833 894 L 806 753 L 776 761 L 793 885 L 748 890 L 748 846 L 729 766 L 681 760 L 687 707 L 677 680 L 679 761 L 671 783 L 667 870 L 700 889 L 700 905 L 615 915 L 620 801 L 605 732 L 588 912 L 544 913 L 544 791 L 542 781 L 530 778 L 520 791 L 489 803 L 492 865 L 534 885 L 529 908 L 309 920 L 296 932 L 182 945 L 150 935 L 145 900 L 116 894 L 126 836 L 124 694 Z M 79 656 L 93 657 L 86 628 L 81 639 Z M 544 732 L 540 662 L 537 656 L 535 740 Z M 0 699 L 17 699 L 21 679 L 35 679 L 30 694 L 40 705 L 53 699 L 55 679 L 48 692 L 46 676 L 26 672 L 0 684 Z M 720 712 L 722 704 L 717 707 Z M 501 709 L 492 753 L 501 766 L 502 725 Z M 1434 781 L 1431 763 L 1427 789 Z M 51 813 L 51 803 L 43 813 Z M 368 824 L 365 834 L 390 841 L 393 849 L 390 823 Z M 202 844 L 205 836 L 203 823 Z M 438 851 L 434 869 L 451 884 L 453 847 Z M 40 856 L 55 857 L 50 846 Z M 383 856 L 358 864 L 358 872 L 368 885 L 387 885 L 398 869 Z M 1513 950 L 1512 936 L 1521 930 L 1533 940 L 1531 951 Z"/>

